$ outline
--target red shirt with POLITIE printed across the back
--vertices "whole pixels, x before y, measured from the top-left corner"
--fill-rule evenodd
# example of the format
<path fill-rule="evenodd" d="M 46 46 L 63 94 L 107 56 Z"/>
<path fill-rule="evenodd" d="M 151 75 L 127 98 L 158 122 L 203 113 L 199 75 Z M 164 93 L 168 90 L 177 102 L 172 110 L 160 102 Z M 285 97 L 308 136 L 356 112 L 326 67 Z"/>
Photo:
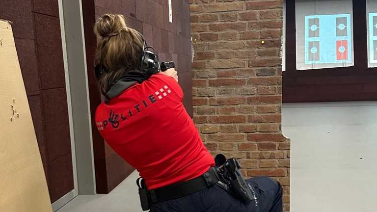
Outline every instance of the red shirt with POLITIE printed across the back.
<path fill-rule="evenodd" d="M 215 165 L 182 100 L 175 79 L 157 74 L 97 108 L 99 132 L 149 189 L 185 182 Z"/>

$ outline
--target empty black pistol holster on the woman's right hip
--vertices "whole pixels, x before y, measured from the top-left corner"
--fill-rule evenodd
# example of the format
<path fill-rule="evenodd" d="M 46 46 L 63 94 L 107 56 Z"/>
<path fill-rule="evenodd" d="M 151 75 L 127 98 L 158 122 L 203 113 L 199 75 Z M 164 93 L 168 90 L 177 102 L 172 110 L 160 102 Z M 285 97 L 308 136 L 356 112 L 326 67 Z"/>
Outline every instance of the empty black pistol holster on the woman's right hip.
<path fill-rule="evenodd" d="M 215 157 L 216 171 L 218 174 L 218 186 L 224 188 L 236 199 L 243 202 L 250 202 L 254 199 L 249 187 L 246 185 L 241 173 L 240 162 L 235 159 L 226 159 L 224 155 L 218 154 Z"/>

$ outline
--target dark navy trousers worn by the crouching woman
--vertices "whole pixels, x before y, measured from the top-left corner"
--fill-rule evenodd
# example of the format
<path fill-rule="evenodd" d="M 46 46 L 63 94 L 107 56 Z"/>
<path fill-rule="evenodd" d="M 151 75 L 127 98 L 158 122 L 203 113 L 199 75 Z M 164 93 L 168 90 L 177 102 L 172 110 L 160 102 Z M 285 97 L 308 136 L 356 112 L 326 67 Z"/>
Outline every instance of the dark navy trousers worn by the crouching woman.
<path fill-rule="evenodd" d="M 243 203 L 217 185 L 152 205 L 150 212 L 282 212 L 281 185 L 269 177 L 246 180 L 254 200 Z"/>

